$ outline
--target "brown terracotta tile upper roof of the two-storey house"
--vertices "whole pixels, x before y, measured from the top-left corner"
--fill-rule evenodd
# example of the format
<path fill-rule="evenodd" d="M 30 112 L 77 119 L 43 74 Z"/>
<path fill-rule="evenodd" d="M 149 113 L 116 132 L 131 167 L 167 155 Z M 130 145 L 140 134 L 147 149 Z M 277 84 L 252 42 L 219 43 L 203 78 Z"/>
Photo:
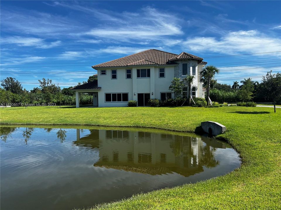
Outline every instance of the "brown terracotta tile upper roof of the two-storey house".
<path fill-rule="evenodd" d="M 196 59 L 198 61 L 202 61 L 203 58 L 197 57 L 195 55 L 191 55 L 188 53 L 181 53 L 180 55 L 174 54 L 174 53 L 168 53 L 161 50 L 145 50 L 139 53 L 135 53 L 133 55 L 128 55 L 125 57 L 121 57 L 112 61 L 108 61 L 105 63 L 97 64 L 95 66 L 92 66 L 92 68 L 97 67 L 126 67 L 126 66 L 134 66 L 134 65 L 168 65 L 168 64 L 176 64 L 172 59 L 177 56 L 181 56 L 182 58 L 177 59 Z"/>

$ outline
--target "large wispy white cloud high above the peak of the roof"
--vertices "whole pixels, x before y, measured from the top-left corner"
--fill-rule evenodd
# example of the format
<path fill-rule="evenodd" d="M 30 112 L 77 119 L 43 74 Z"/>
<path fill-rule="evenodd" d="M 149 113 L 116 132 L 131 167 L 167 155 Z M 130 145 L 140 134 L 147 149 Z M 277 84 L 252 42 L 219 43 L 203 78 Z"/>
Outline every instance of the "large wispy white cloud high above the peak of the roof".
<path fill-rule="evenodd" d="M 131 41 L 131 40 L 161 40 L 165 36 L 181 35 L 179 19 L 169 13 L 160 12 L 154 8 L 143 8 L 141 13 L 126 13 L 123 21 L 115 26 L 102 25 L 84 33 L 102 39 Z"/>

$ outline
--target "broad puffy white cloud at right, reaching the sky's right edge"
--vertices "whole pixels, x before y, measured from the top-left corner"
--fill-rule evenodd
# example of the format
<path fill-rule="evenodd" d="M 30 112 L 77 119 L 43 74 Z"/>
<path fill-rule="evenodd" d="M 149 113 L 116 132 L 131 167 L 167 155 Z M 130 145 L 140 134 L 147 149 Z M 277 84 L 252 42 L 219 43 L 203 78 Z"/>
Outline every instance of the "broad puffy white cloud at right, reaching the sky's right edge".
<path fill-rule="evenodd" d="M 223 54 L 261 53 L 280 51 L 280 38 L 273 38 L 257 30 L 232 31 L 221 38 L 195 37 L 183 42 L 186 49 L 197 52 L 215 52 Z M 280 53 L 270 54 L 279 56 Z"/>

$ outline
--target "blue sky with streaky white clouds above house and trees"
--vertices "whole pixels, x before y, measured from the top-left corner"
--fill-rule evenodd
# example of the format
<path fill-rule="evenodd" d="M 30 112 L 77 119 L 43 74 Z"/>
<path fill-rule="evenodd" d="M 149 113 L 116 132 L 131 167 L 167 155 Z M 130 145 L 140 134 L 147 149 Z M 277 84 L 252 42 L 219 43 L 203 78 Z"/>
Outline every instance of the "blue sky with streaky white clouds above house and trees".
<path fill-rule="evenodd" d="M 281 72 L 281 53 L 268 53 L 281 51 L 281 1 L 0 4 L 0 78 L 14 77 L 27 90 L 43 77 L 77 85 L 96 73 L 92 65 L 146 49 L 203 57 L 220 68 L 219 83 Z"/>

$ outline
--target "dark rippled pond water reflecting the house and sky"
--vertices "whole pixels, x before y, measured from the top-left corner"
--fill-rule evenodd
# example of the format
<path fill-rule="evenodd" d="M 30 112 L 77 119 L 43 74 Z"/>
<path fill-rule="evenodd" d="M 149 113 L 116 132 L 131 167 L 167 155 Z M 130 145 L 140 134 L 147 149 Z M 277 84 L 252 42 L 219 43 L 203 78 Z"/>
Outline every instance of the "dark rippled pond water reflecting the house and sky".
<path fill-rule="evenodd" d="M 1 209 L 73 209 L 239 167 L 225 142 L 153 129 L 2 126 Z"/>

